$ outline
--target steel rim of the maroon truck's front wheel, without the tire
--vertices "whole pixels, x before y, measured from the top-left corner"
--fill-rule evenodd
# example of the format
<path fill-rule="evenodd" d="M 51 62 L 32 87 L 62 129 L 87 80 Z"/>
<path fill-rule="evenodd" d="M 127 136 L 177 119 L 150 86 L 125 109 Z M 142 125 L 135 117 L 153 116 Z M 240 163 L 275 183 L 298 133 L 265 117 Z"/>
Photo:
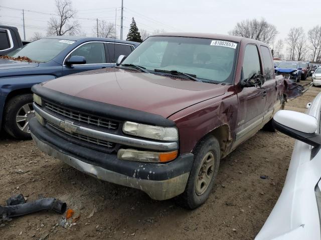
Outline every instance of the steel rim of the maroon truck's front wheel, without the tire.
<path fill-rule="evenodd" d="M 195 192 L 197 195 L 202 195 L 209 187 L 215 165 L 215 155 L 213 151 L 209 151 L 202 159 L 201 168 L 196 177 Z"/>

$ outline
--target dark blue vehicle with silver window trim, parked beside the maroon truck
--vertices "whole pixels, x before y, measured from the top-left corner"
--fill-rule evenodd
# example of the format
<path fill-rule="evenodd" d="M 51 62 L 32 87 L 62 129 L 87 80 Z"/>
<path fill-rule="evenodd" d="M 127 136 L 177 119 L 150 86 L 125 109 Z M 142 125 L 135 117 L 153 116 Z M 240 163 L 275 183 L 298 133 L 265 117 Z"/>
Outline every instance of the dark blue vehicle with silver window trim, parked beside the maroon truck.
<path fill-rule="evenodd" d="M 138 42 L 98 37 L 45 37 L 0 58 L 0 130 L 29 138 L 34 115 L 31 87 L 60 76 L 115 65 Z M 21 61 L 17 59 L 27 59 Z M 90 79 L 88 79 L 90 80 Z"/>

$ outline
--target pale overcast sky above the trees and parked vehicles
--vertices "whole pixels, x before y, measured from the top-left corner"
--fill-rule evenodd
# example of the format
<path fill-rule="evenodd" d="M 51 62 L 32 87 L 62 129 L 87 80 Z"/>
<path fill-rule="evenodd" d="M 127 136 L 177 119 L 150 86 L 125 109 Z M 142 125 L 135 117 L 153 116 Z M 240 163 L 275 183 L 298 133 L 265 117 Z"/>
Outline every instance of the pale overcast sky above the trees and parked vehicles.
<path fill-rule="evenodd" d="M 82 32 L 93 35 L 96 18 L 117 22 L 120 35 L 121 0 L 72 0 Z M 139 29 L 153 32 L 211 32 L 227 34 L 238 21 L 265 18 L 284 39 L 291 27 L 302 26 L 305 33 L 321 24 L 320 0 L 124 0 L 123 35 L 131 18 Z M 23 38 L 22 10 L 25 9 L 26 39 L 38 31 L 46 34 L 47 21 L 55 13 L 55 0 L 1 0 L 0 24 L 15 25 Z M 37 12 L 31 12 L 38 11 Z M 117 15 L 115 16 L 117 12 Z M 275 40 L 275 41 L 276 41 Z"/>

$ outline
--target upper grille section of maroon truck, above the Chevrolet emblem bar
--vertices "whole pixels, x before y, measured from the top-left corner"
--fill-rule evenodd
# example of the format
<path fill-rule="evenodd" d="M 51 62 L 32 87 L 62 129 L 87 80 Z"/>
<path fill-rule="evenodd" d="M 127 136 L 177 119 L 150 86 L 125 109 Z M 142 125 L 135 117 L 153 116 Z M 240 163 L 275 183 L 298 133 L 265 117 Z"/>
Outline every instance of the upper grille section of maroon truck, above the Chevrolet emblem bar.
<path fill-rule="evenodd" d="M 118 122 L 107 118 L 70 110 L 68 108 L 65 108 L 47 101 L 45 102 L 45 106 L 49 111 L 52 111 L 60 116 L 65 116 L 65 117 L 77 120 L 79 122 L 87 123 L 89 125 L 94 125 L 96 127 L 104 127 L 107 129 L 118 128 Z"/>

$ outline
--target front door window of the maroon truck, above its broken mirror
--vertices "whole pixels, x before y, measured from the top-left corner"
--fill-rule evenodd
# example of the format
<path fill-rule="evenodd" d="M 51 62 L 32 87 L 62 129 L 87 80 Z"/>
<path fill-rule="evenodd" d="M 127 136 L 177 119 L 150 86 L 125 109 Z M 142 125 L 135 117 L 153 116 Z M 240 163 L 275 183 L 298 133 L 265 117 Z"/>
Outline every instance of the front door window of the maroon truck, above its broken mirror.
<path fill-rule="evenodd" d="M 260 58 L 256 45 L 247 45 L 245 47 L 243 60 L 244 79 L 251 77 L 254 73 L 261 74 Z"/>

